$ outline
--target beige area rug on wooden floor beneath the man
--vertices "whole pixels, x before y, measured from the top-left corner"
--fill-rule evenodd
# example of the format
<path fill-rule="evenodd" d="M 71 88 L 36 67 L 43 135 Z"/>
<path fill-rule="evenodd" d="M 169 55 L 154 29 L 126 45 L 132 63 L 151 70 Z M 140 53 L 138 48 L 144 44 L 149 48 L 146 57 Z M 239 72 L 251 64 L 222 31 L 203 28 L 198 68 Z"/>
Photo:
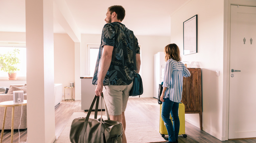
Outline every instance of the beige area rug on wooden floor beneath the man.
<path fill-rule="evenodd" d="M 69 132 L 73 119 L 79 117 L 86 117 L 87 112 L 75 112 L 70 117 L 60 136 L 55 143 L 70 143 Z M 103 119 L 107 119 L 105 112 L 102 112 Z M 100 112 L 98 112 L 98 118 Z M 91 113 L 90 118 L 94 118 L 94 112 Z M 159 131 L 153 129 L 138 112 L 134 110 L 125 111 L 126 119 L 126 138 L 127 143 L 159 143 L 166 142 L 160 135 Z"/>

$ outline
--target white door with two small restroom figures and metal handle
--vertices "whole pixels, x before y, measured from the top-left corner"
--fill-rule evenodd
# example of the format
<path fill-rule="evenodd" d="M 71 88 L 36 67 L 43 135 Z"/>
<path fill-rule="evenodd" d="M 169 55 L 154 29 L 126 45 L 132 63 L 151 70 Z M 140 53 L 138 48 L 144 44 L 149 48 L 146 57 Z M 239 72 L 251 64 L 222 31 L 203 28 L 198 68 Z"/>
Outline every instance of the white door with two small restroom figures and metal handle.
<path fill-rule="evenodd" d="M 256 137 L 256 7 L 232 5 L 230 20 L 228 138 Z"/>

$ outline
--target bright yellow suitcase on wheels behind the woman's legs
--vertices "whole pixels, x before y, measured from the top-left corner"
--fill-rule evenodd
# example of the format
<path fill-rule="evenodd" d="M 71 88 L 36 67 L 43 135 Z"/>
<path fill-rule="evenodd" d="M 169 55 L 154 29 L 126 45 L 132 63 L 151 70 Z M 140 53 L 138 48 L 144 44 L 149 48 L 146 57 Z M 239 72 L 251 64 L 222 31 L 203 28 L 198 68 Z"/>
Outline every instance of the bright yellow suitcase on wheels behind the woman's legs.
<path fill-rule="evenodd" d="M 164 125 L 164 122 L 162 120 L 161 117 L 162 114 L 162 104 L 160 104 L 160 134 L 162 135 L 162 137 L 164 137 L 165 135 L 168 135 L 167 129 Z M 170 115 L 170 119 L 172 119 L 171 115 Z M 183 103 L 179 104 L 179 119 L 180 119 L 180 131 L 179 131 L 179 135 L 183 135 L 183 137 L 187 137 L 187 135 L 185 134 L 185 106 Z"/>

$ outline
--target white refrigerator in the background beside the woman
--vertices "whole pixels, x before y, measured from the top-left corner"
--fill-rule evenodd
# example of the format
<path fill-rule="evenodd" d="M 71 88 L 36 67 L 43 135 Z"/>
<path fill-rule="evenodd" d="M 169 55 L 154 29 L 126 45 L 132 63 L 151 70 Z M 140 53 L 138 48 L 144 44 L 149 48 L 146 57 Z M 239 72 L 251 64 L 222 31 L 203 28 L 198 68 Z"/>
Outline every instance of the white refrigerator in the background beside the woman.
<path fill-rule="evenodd" d="M 165 60 L 164 60 L 164 53 L 158 52 L 154 55 L 154 97 L 158 98 L 158 88 L 159 84 L 163 82 L 163 76 L 164 76 L 164 68 L 165 68 Z"/>

